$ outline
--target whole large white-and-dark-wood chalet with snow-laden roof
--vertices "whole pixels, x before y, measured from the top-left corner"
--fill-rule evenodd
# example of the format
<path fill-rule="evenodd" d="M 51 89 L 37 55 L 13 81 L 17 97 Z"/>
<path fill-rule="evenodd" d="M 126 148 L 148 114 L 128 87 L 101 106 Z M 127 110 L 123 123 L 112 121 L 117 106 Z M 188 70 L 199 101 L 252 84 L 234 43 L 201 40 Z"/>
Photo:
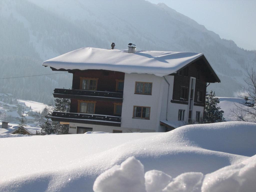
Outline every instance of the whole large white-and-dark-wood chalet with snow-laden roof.
<path fill-rule="evenodd" d="M 69 123 L 69 133 L 165 132 L 203 116 L 206 87 L 220 82 L 203 54 L 81 48 L 43 66 L 73 73 L 72 89 L 55 89 L 71 99 L 70 113 L 52 121 Z"/>

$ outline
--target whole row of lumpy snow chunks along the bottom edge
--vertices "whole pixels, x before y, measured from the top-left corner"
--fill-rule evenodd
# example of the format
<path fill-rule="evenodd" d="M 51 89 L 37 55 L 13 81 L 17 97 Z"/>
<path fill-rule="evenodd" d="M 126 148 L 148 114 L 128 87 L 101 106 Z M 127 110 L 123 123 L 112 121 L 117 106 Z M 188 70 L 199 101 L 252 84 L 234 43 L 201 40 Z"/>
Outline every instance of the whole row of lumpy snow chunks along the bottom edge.
<path fill-rule="evenodd" d="M 115 165 L 97 177 L 93 190 L 95 192 L 254 192 L 255 160 L 256 155 L 242 163 L 223 167 L 206 176 L 202 173 L 190 172 L 172 179 L 162 171 L 151 170 L 145 173 L 144 179 L 144 166 L 134 157 L 129 157 L 120 166 Z"/>

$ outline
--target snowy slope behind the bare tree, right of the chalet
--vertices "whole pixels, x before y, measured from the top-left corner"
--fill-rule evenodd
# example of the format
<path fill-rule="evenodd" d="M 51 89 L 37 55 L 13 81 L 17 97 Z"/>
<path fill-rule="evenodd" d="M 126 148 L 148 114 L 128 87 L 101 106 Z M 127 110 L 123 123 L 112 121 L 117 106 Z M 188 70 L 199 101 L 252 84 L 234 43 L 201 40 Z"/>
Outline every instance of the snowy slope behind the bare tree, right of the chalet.
<path fill-rule="evenodd" d="M 220 103 L 218 104 L 218 107 L 221 107 L 221 110 L 224 111 L 223 117 L 225 118 L 226 121 L 236 121 L 236 118 L 232 116 L 233 113 L 231 112 L 231 110 L 237 109 L 237 106 L 248 108 L 248 106 L 244 106 L 244 103 L 246 102 L 245 99 L 232 98 L 232 97 L 218 97 L 218 98 L 220 99 Z"/>

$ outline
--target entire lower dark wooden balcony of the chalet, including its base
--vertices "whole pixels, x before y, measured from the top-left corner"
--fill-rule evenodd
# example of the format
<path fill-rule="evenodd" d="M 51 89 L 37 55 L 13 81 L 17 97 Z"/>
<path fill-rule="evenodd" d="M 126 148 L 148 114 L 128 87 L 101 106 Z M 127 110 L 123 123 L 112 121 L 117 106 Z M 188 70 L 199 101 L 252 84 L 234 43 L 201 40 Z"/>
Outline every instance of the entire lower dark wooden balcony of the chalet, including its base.
<path fill-rule="evenodd" d="M 71 123 L 85 123 L 93 125 L 121 126 L 121 117 L 110 115 L 98 115 L 88 113 L 67 113 L 53 111 L 51 114 L 52 121 L 63 121 Z"/>

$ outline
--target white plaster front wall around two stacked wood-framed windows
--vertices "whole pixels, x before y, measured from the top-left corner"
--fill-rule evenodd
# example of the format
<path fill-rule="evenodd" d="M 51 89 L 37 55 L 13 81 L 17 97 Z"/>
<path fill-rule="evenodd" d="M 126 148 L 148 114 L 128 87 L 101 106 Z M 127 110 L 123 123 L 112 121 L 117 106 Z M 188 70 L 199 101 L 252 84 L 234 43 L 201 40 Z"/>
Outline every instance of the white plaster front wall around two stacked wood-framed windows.
<path fill-rule="evenodd" d="M 135 82 L 152 82 L 152 95 L 134 94 Z M 125 73 L 121 126 L 134 129 L 158 130 L 162 103 L 162 77 L 153 74 Z M 165 82 L 166 83 L 166 82 Z M 159 102 L 159 100 L 161 100 Z M 151 107 L 150 119 L 135 119 L 133 106 Z M 160 107 L 160 109 L 159 109 Z"/>

